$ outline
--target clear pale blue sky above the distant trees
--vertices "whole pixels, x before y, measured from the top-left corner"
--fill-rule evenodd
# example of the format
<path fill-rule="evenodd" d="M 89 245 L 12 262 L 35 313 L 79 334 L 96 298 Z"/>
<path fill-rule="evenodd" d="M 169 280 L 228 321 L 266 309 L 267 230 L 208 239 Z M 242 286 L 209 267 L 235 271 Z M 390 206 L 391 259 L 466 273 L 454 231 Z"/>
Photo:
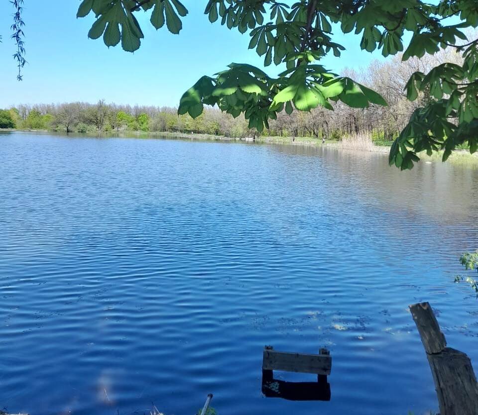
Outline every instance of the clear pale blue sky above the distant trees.
<path fill-rule="evenodd" d="M 10 36 L 13 9 L 0 4 L 0 107 L 13 104 L 96 102 L 117 104 L 170 105 L 200 76 L 212 75 L 231 62 L 262 68 L 263 59 L 248 50 L 249 35 L 211 24 L 203 14 L 206 0 L 183 0 L 190 13 L 183 18 L 179 35 L 166 27 L 156 31 L 147 13 L 136 13 L 145 38 L 133 54 L 120 46 L 107 48 L 102 39 L 88 39 L 94 15 L 76 18 L 78 0 L 25 0 L 25 48 L 28 63 L 23 81 L 16 81 L 15 51 Z M 338 35 L 346 46 L 341 58 L 332 54 L 322 63 L 340 72 L 344 67 L 366 66 L 381 59 L 360 50 L 360 36 Z M 271 75 L 277 69 L 266 69 Z"/>

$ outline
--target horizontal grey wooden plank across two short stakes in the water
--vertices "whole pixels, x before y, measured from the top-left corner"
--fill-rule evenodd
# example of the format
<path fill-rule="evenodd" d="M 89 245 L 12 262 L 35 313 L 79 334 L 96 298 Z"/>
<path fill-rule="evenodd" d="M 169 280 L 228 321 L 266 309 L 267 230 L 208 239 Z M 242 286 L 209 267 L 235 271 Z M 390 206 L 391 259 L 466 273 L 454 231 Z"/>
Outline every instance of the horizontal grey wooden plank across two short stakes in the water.
<path fill-rule="evenodd" d="M 301 354 L 265 349 L 262 369 L 330 375 L 332 357 L 325 354 Z"/>

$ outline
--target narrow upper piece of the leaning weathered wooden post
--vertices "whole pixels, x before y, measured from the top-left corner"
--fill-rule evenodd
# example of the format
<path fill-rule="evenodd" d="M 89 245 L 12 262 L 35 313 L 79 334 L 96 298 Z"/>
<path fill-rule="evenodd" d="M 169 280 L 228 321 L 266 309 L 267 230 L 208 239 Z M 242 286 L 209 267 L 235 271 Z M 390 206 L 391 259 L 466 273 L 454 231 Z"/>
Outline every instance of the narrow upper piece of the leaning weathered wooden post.
<path fill-rule="evenodd" d="M 437 318 L 429 303 L 413 304 L 410 307 L 417 325 L 423 347 L 428 354 L 440 353 L 447 346 L 445 335 L 440 330 Z"/>

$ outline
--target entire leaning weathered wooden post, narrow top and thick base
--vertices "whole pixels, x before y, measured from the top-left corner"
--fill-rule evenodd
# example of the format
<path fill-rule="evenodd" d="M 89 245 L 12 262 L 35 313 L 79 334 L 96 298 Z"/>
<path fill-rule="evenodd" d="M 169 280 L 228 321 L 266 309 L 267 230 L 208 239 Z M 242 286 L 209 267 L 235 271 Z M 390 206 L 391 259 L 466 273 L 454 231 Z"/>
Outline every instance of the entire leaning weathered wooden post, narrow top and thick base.
<path fill-rule="evenodd" d="M 440 415 L 477 415 L 478 384 L 470 358 L 447 347 L 429 303 L 410 306 L 437 391 Z"/>

